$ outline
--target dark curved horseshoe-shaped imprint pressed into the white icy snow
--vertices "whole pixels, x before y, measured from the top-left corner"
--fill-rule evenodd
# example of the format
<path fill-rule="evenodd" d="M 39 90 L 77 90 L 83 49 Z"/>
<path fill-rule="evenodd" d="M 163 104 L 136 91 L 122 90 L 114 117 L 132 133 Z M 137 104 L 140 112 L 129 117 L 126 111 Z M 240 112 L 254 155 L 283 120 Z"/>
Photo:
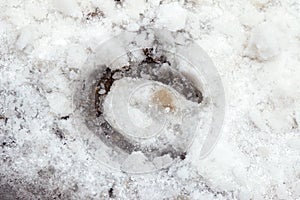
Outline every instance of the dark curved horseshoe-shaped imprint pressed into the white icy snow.
<path fill-rule="evenodd" d="M 158 81 L 174 88 L 187 100 L 196 103 L 202 102 L 202 92 L 198 90 L 189 79 L 172 67 L 165 56 L 155 57 L 153 48 L 145 48 L 143 49 L 143 53 L 145 55 L 145 59 L 142 62 L 130 66 L 124 66 L 116 70 L 111 70 L 107 67 L 100 77 L 95 88 L 96 116 L 101 118 L 102 121 L 100 124 L 102 131 L 98 133 L 98 136 L 107 145 L 119 147 L 129 154 L 134 151 L 141 151 L 148 157 L 150 157 L 151 154 L 152 156 L 163 156 L 165 154 L 169 154 L 170 157 L 174 159 L 176 157 L 180 157 L 185 152 L 179 152 L 171 146 L 168 146 L 165 149 L 142 149 L 139 144 L 130 141 L 129 138 L 116 131 L 103 116 L 103 102 L 114 81 L 124 77 L 142 78 L 143 74 L 147 74 L 147 79 L 151 81 Z M 162 67 L 162 65 L 164 65 L 164 67 Z"/>

